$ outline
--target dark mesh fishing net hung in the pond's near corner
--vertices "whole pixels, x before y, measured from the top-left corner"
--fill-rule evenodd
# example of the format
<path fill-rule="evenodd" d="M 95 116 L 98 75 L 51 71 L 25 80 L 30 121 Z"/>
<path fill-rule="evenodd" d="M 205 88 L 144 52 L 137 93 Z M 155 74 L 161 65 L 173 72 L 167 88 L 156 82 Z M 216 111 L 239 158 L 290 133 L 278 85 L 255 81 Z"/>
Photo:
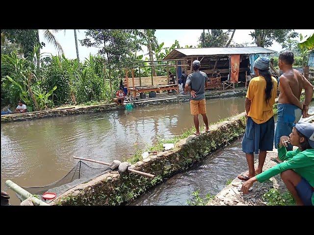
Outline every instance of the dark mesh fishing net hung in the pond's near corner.
<path fill-rule="evenodd" d="M 72 170 L 65 175 L 62 179 L 46 186 L 41 187 L 22 187 L 26 191 L 30 192 L 31 194 L 36 194 L 41 197 L 41 200 L 49 203 L 52 200 L 45 200 L 42 195 L 45 192 L 54 192 L 57 196 L 64 193 L 65 191 L 74 188 L 75 186 L 90 181 L 91 179 L 102 175 L 111 169 L 109 167 L 104 168 L 94 168 L 89 166 L 88 164 L 79 161 Z M 16 194 L 21 201 L 23 200 L 21 196 Z"/>

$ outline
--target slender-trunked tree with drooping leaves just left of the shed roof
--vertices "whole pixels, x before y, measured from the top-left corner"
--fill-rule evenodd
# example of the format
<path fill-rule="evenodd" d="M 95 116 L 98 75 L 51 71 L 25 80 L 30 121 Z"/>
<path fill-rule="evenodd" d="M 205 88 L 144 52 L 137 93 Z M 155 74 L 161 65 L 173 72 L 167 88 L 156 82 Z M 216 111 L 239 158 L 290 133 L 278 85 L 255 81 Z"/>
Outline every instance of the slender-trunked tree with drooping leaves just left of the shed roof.
<path fill-rule="evenodd" d="M 158 47 L 157 38 L 155 36 L 156 29 L 131 29 L 129 32 L 142 39 L 143 45 L 148 49 L 149 59 L 154 60 L 153 50 Z M 152 67 L 152 72 L 154 76 L 156 76 L 155 67 Z"/>

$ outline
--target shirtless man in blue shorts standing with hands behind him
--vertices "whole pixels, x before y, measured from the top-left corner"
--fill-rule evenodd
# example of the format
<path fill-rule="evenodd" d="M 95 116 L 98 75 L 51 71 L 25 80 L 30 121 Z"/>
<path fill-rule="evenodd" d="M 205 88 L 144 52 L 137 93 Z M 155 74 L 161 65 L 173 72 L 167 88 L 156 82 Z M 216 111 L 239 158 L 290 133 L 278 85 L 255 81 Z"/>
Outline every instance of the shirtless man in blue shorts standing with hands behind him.
<path fill-rule="evenodd" d="M 280 94 L 278 97 L 275 148 L 278 147 L 280 137 L 288 136 L 302 115 L 303 118 L 310 117 L 308 111 L 313 97 L 313 86 L 299 71 L 292 69 L 293 61 L 292 51 L 286 50 L 280 53 L 278 66 L 284 73 L 280 76 L 278 83 Z M 304 102 L 300 102 L 302 89 L 305 90 Z M 291 144 L 288 144 L 287 150 L 292 150 Z M 278 163 L 282 162 L 278 156 L 272 160 Z"/>

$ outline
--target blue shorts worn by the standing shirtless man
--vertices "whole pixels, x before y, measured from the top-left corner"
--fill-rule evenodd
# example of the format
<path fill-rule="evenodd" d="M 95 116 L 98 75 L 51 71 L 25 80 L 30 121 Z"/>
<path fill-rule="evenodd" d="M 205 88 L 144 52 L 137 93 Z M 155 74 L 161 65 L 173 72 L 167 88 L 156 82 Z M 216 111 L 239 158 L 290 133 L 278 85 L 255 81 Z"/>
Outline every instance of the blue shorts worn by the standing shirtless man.
<path fill-rule="evenodd" d="M 275 148 L 277 148 L 277 145 L 279 144 L 280 137 L 290 135 L 295 123 L 297 123 L 302 116 L 302 110 L 293 104 L 278 104 L 277 116 Z M 290 143 L 288 143 L 287 150 L 292 150 L 292 145 Z"/>

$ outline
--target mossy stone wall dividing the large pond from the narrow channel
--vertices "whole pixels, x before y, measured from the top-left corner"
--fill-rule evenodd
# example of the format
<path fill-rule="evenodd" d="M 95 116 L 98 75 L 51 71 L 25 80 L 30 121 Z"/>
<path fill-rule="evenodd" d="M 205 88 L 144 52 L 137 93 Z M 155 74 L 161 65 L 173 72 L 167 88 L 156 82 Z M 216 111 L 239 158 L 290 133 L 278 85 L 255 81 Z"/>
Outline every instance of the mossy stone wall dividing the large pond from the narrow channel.
<path fill-rule="evenodd" d="M 76 186 L 58 196 L 51 205 L 120 205 L 144 193 L 176 172 L 202 161 L 209 153 L 225 146 L 245 131 L 244 113 L 209 126 L 210 132 L 191 135 L 172 150 L 158 152 L 132 165 L 134 169 L 154 174 L 154 179 L 134 173 L 111 171 Z"/>

